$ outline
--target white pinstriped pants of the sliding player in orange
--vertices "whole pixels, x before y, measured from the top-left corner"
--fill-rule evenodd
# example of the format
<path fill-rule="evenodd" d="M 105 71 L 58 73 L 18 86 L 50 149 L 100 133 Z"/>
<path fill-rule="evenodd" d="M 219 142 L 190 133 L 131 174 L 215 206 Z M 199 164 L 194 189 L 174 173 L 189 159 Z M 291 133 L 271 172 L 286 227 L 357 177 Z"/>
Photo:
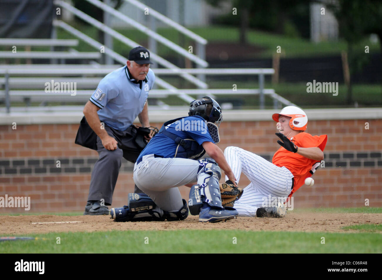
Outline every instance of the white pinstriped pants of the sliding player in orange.
<path fill-rule="evenodd" d="M 264 207 L 269 196 L 283 197 L 291 192 L 293 174 L 286 167 L 278 167 L 259 155 L 239 147 L 227 147 L 224 156 L 230 165 L 237 183 L 243 172 L 251 183 L 244 188 L 243 195 L 234 206 L 239 216 L 256 217 L 258 207 Z M 228 177 L 225 177 L 228 180 Z"/>

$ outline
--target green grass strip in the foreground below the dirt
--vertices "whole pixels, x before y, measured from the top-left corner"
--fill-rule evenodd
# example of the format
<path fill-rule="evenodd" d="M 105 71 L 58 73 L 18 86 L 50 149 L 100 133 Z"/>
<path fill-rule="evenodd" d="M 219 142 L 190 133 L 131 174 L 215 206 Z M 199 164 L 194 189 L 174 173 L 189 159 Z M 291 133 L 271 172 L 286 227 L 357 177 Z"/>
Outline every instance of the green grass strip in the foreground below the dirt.
<path fill-rule="evenodd" d="M 0 253 L 381 253 L 377 233 L 178 230 L 48 233 L 3 241 Z M 61 244 L 56 244 L 60 237 Z M 233 244 L 236 237 L 236 243 Z M 321 237 L 325 244 L 321 244 Z M 148 244 L 145 244 L 145 241 Z"/>

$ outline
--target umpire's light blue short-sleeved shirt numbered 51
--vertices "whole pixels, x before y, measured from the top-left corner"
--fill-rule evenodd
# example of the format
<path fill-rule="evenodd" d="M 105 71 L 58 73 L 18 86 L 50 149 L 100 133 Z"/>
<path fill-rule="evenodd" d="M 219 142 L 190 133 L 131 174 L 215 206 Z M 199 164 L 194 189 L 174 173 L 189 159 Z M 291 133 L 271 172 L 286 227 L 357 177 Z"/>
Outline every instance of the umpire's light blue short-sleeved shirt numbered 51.
<path fill-rule="evenodd" d="M 97 112 L 100 121 L 114 129 L 126 130 L 142 112 L 154 81 L 151 69 L 146 79 L 139 82 L 131 77 L 127 66 L 107 74 L 90 97 L 90 101 L 101 108 Z"/>

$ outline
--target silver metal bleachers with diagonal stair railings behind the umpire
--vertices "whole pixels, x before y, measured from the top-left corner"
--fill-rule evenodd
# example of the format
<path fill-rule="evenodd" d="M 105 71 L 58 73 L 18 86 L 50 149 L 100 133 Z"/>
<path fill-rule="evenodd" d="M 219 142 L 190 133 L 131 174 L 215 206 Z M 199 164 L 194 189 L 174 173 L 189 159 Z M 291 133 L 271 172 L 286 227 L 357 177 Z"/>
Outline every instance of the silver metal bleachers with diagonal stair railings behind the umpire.
<path fill-rule="evenodd" d="M 89 3 L 104 10 L 105 14 L 110 14 L 118 17 L 119 19 L 131 24 L 132 19 L 120 12 L 114 10 L 105 3 L 99 0 L 86 0 Z M 125 0 L 131 5 L 136 6 L 138 9 L 142 9 L 142 4 L 136 0 Z M 105 1 L 107 2 L 107 1 Z M 123 36 L 117 31 L 113 30 L 104 23 L 100 23 L 89 15 L 77 10 L 67 2 L 62 0 L 55 0 L 55 5 L 66 9 L 68 12 L 73 13 L 77 17 L 87 21 L 89 24 L 98 28 L 108 36 L 114 37 L 120 40 L 129 47 L 135 47 L 138 43 Z M 146 6 L 145 6 L 146 7 Z M 151 9 L 151 8 L 150 8 Z M 152 89 L 149 94 L 149 98 L 154 99 L 155 105 L 164 109 L 173 108 L 160 99 L 166 98 L 170 95 L 176 95 L 181 100 L 190 102 L 197 95 L 259 95 L 260 108 L 264 108 L 265 95 L 270 96 L 274 100 L 274 107 L 278 107 L 279 104 L 294 105 L 288 100 L 284 99 L 280 95 L 276 94 L 273 89 L 264 88 L 264 76 L 272 75 L 273 69 L 211 69 L 206 68 L 208 63 L 205 61 L 204 47 L 207 44 L 207 40 L 197 36 L 191 31 L 188 31 L 178 23 L 172 22 L 170 19 L 163 15 L 160 15 L 155 10 L 151 9 L 151 15 L 157 20 L 161 20 L 166 24 L 169 24 L 173 28 L 182 32 L 186 36 L 191 37 L 197 42 L 197 49 L 199 56 L 188 53 L 180 48 L 173 42 L 163 39 L 162 36 L 155 31 L 151 31 L 147 28 L 142 30 L 149 36 L 151 40 L 157 40 L 167 47 L 173 49 L 180 55 L 184 55 L 191 61 L 193 61 L 197 68 L 193 69 L 181 69 L 176 65 L 168 62 L 164 58 L 157 55 L 155 52 L 151 52 L 151 59 L 157 64 L 162 65 L 165 68 L 155 68 L 155 84 L 159 86 L 159 89 Z M 69 34 L 73 35 L 77 39 L 56 39 L 56 28 L 62 28 Z M 0 46 L 38 46 L 38 47 L 50 47 L 50 51 L 0 51 L 0 61 L 6 61 L 6 64 L 0 64 L 0 104 L 5 104 L 5 107 L 0 107 L 0 113 L 9 113 L 11 110 L 11 104 L 16 102 L 22 102 L 22 106 L 12 106 L 13 112 L 36 112 L 36 111 L 82 111 L 84 103 L 89 100 L 90 95 L 97 88 L 97 85 L 106 74 L 126 64 L 126 57 L 116 53 L 112 46 L 109 48 L 105 45 L 105 52 L 99 51 L 100 42 L 92 39 L 83 32 L 75 29 L 68 23 L 60 20 L 53 20 L 53 38 L 52 39 L 0 39 Z M 94 52 L 78 52 L 72 47 L 78 45 L 78 39 L 84 40 L 87 44 L 94 47 Z M 152 43 L 151 43 L 152 45 Z M 152 45 L 155 50 L 156 47 Z M 59 51 L 55 51 L 59 49 Z M 63 49 L 66 49 L 65 51 Z M 102 55 L 107 55 L 117 63 L 101 65 L 99 59 Z M 19 59 L 49 59 L 52 64 L 11 64 L 8 62 L 19 61 Z M 76 62 L 82 62 L 82 64 L 67 64 L 66 60 L 75 60 Z M 60 62 L 60 64 L 58 63 Z M 175 86 L 167 83 L 160 76 L 179 76 L 191 84 L 194 84 L 196 88 L 193 89 L 178 89 Z M 205 82 L 206 75 L 256 75 L 258 76 L 259 88 L 248 89 L 208 89 L 208 84 Z M 67 91 L 52 92 L 47 84 L 51 85 L 59 83 L 64 86 Z M 71 87 L 70 87 L 71 86 Z M 48 88 L 48 90 L 47 90 Z M 75 88 L 75 92 L 73 89 Z M 61 87 L 62 89 L 62 87 Z M 192 96 L 191 96 L 192 95 Z M 31 106 L 38 102 L 39 106 Z M 47 106 L 49 103 L 54 103 L 55 106 Z M 18 104 L 19 105 L 19 104 Z"/>

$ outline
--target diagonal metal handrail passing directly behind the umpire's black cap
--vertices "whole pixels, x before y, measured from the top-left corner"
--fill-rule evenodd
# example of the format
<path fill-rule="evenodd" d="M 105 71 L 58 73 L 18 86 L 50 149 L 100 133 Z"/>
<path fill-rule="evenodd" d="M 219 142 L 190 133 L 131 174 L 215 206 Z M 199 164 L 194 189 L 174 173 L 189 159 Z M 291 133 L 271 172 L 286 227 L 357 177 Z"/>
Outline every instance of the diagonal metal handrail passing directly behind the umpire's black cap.
<path fill-rule="evenodd" d="M 108 34 L 110 34 L 114 38 L 120 40 L 121 42 L 125 43 L 126 45 L 129 45 L 130 47 L 136 47 L 139 45 L 138 43 L 134 42 L 133 40 L 128 39 L 127 37 L 123 36 L 121 33 L 115 31 L 114 29 L 112 29 L 108 26 L 106 26 L 105 24 L 101 23 L 100 21 L 97 21 L 96 19 L 92 18 L 91 16 L 87 15 L 86 13 L 74 8 L 70 4 L 63 2 L 62 0 L 55 0 L 53 3 L 55 5 L 59 5 L 59 6 L 62 6 L 63 8 L 66 8 L 66 10 L 70 11 L 74 15 L 78 16 L 79 18 L 83 19 L 84 21 L 87 21 L 88 23 L 92 24 L 96 28 L 98 28 L 104 32 L 107 32 Z M 98 45 L 97 48 L 99 48 L 99 46 L 100 45 Z M 105 47 L 105 50 L 106 50 L 106 47 Z M 105 52 L 105 54 L 107 54 L 107 52 Z M 174 71 L 174 72 L 177 72 L 177 70 L 180 69 L 178 66 L 172 64 L 171 62 L 168 62 L 167 60 L 160 57 L 156 53 L 151 53 L 151 58 L 154 61 L 158 62 L 159 64 L 165 66 L 166 68 L 171 68 L 172 71 Z M 183 78 L 185 78 L 189 82 L 195 84 L 197 87 L 200 87 L 200 88 L 207 88 L 208 87 L 208 85 L 206 83 L 195 78 L 194 76 L 192 76 L 190 74 L 181 73 L 180 76 L 182 76 Z"/>

